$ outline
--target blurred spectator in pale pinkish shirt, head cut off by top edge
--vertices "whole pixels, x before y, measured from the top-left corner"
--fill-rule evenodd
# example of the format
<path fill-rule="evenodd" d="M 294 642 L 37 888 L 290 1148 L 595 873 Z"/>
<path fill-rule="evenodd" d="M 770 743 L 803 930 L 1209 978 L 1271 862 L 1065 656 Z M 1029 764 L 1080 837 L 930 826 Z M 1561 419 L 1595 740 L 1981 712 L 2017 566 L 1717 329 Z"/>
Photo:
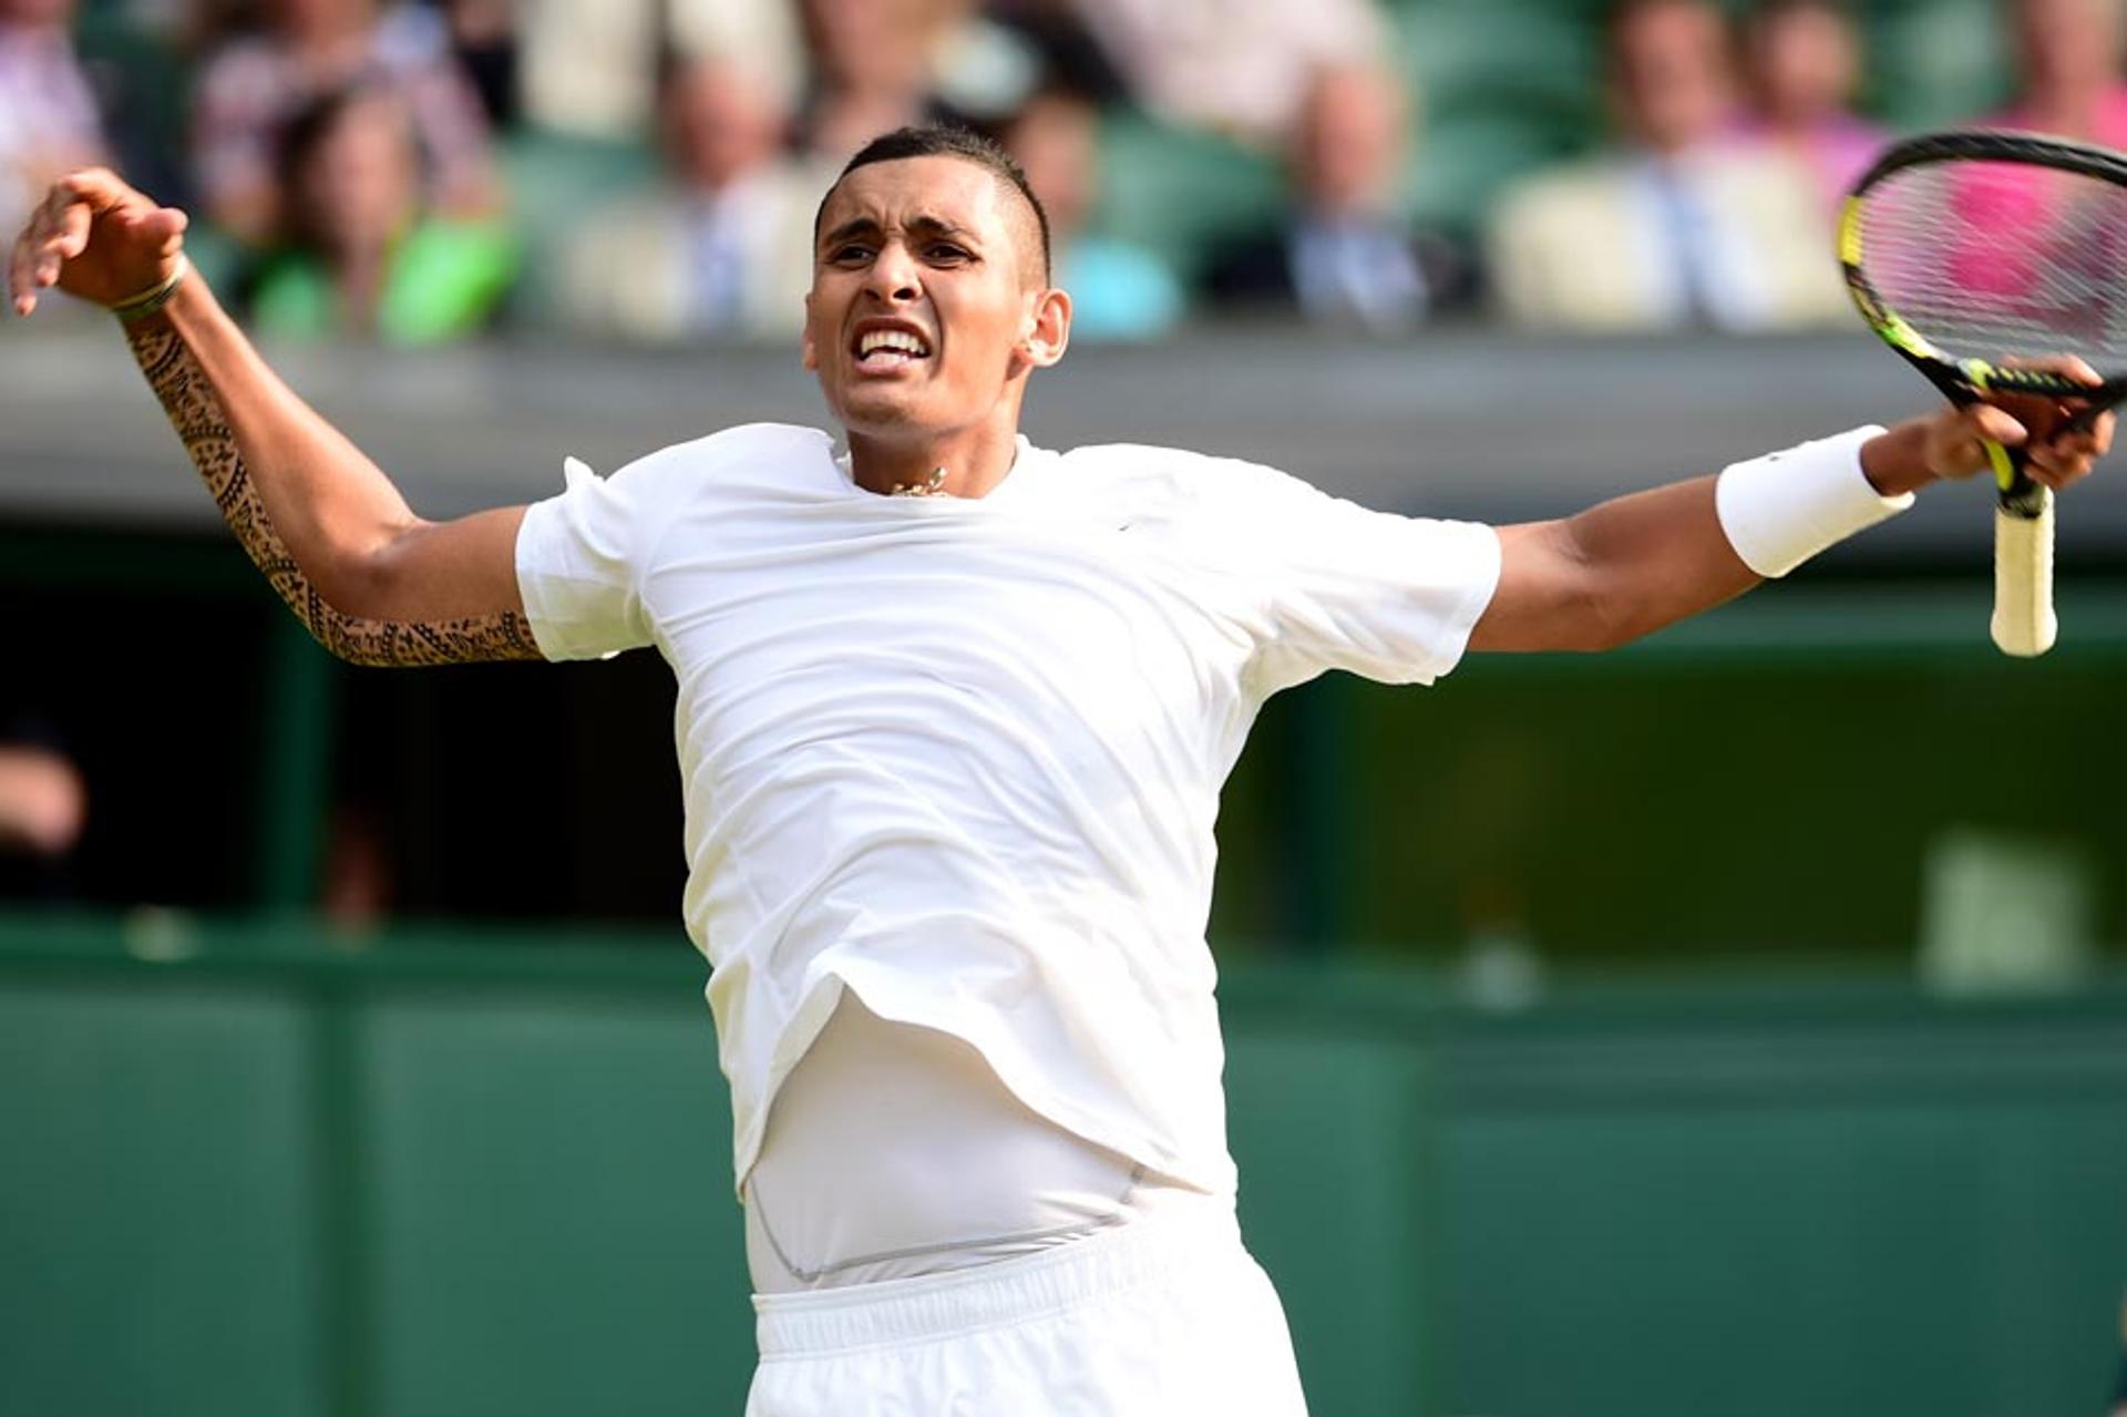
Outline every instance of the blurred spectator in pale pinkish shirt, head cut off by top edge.
<path fill-rule="evenodd" d="M 1374 60 L 1374 0 L 1078 0 L 1087 28 L 1153 113 L 1278 147 L 1314 74 Z"/>

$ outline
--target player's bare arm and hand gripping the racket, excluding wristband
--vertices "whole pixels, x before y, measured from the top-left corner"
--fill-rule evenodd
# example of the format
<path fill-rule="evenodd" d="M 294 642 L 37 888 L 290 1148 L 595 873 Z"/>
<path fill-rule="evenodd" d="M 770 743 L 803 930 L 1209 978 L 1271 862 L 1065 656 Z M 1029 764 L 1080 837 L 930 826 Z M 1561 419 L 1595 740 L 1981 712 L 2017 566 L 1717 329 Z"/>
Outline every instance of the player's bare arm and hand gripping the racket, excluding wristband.
<path fill-rule="evenodd" d="M 2097 383 L 2080 362 L 2063 372 Z M 1944 409 L 1861 445 L 1861 474 L 1885 498 L 1987 466 L 1982 438 L 2023 445 L 2031 477 L 2065 487 L 2089 477 L 2112 445 L 2112 415 L 2087 432 L 2061 428 L 2067 409 L 2014 404 Z M 2019 421 L 2023 419 L 2023 421 Z M 1655 487 L 1602 502 L 1561 521 L 1500 528 L 1500 589 L 1470 634 L 1472 649 L 1612 649 L 1710 611 L 1759 583 L 1723 528 L 1716 481 Z"/>

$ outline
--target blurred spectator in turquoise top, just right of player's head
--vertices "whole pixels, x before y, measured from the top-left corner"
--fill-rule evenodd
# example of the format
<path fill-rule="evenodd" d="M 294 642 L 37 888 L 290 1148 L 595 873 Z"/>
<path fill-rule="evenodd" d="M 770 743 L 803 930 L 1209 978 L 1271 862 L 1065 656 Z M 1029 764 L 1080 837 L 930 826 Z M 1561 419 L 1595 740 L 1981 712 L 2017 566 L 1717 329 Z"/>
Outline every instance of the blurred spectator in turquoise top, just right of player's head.
<path fill-rule="evenodd" d="M 1004 132 L 1004 147 L 1049 211 L 1055 283 L 1070 291 L 1074 340 L 1146 340 L 1183 315 L 1180 281 L 1125 240 L 1087 236 L 1100 198 L 1100 115 L 1066 89 L 1044 89 Z"/>

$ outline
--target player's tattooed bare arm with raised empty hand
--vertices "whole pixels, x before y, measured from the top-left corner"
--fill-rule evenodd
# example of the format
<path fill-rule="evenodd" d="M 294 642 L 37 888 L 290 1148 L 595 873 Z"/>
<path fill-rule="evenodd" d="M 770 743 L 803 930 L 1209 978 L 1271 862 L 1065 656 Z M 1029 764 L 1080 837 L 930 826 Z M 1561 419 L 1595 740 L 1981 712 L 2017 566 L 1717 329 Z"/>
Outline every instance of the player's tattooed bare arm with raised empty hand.
<path fill-rule="evenodd" d="M 15 243 L 15 311 L 28 315 L 53 285 L 104 306 L 168 285 L 166 302 L 128 319 L 134 357 L 230 530 L 338 657 L 540 657 L 517 591 L 523 509 L 417 517 L 383 470 L 266 366 L 189 272 L 183 232 L 183 213 L 111 172 L 68 174 Z"/>

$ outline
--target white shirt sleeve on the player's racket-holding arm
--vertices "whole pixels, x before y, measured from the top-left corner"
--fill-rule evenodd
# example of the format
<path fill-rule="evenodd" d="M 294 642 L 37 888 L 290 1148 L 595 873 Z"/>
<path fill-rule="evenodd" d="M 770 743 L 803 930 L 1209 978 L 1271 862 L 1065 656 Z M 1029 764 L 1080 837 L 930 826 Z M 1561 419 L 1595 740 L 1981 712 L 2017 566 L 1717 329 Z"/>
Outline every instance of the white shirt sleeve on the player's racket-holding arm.
<path fill-rule="evenodd" d="M 1266 691 L 1332 668 L 1378 683 L 1431 683 L 1455 668 L 1500 585 L 1493 528 L 1378 513 L 1285 472 L 1232 466 L 1236 530 L 1263 596 Z"/>

